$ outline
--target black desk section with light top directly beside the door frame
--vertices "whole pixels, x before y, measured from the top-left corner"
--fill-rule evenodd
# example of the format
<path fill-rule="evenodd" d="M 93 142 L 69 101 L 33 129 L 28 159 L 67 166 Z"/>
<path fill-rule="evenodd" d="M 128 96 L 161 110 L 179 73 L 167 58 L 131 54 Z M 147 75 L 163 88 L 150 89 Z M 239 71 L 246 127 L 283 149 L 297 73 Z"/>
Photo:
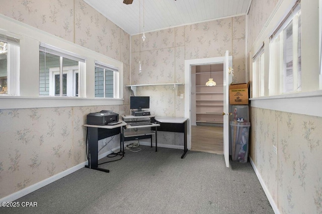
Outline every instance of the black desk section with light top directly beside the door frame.
<path fill-rule="evenodd" d="M 160 124 L 158 131 L 171 131 L 184 133 L 184 153 L 181 158 L 184 158 L 187 148 L 187 120 L 184 117 L 155 117 L 155 120 Z"/>

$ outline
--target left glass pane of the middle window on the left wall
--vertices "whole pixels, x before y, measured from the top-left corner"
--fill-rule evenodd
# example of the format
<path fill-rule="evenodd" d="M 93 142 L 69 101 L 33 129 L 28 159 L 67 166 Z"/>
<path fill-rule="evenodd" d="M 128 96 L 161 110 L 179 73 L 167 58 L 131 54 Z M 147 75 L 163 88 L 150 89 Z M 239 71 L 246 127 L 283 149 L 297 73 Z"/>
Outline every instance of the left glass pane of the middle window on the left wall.
<path fill-rule="evenodd" d="M 60 72 L 60 57 L 48 54 L 45 52 L 39 52 L 39 95 L 49 95 L 49 72 Z M 54 77 L 54 90 L 56 91 L 56 75 Z M 58 93 L 59 94 L 59 93 Z"/>

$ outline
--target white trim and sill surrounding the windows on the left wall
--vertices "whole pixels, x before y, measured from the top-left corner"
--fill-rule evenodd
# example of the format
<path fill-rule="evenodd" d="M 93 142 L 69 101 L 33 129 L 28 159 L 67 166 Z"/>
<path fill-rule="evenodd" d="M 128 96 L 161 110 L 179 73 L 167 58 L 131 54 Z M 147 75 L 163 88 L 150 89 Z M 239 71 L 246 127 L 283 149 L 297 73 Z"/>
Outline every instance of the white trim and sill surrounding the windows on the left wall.
<path fill-rule="evenodd" d="M 20 40 L 20 53 L 32 53 L 34 56 L 20 56 L 20 65 L 24 68 L 24 73 L 17 77 L 20 90 L 24 90 L 19 95 L 0 96 L 0 109 L 20 109 L 20 108 L 46 108 L 46 107 L 72 107 L 72 106 L 110 106 L 123 104 L 123 63 L 97 53 L 88 48 L 76 45 L 62 38 L 53 36 L 30 25 L 11 19 L 0 14 L 0 34 L 18 38 Z M 16 35 L 19 33 L 19 35 Z M 45 42 L 57 48 L 64 49 L 70 53 L 86 56 L 86 65 L 80 66 L 78 97 L 50 97 L 39 95 L 39 43 Z M 94 77 L 92 73 L 95 69 L 95 60 L 105 62 L 119 68 L 119 97 L 120 98 L 95 98 Z M 20 65 L 17 66 L 20 68 Z M 31 82 L 27 77 L 32 77 Z M 31 84 L 31 86 L 30 86 Z M 19 90 L 18 90 L 19 91 Z M 21 95 L 22 94 L 22 95 Z"/>

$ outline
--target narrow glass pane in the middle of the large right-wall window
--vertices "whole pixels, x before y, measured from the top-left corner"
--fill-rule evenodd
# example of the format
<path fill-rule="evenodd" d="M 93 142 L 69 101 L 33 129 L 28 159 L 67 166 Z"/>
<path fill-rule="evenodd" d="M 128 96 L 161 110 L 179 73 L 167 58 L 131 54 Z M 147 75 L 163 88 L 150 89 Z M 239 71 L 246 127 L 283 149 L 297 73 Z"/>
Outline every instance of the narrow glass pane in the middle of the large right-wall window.
<path fill-rule="evenodd" d="M 284 30 L 284 93 L 293 92 L 293 25 Z"/>

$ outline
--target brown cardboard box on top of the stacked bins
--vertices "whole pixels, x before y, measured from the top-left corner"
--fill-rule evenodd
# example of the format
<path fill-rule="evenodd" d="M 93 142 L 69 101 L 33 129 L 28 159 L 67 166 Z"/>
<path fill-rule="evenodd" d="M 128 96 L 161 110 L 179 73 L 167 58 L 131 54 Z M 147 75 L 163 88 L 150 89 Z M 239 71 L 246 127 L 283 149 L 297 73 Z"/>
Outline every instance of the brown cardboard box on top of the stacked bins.
<path fill-rule="evenodd" d="M 231 84 L 229 86 L 229 104 L 230 105 L 248 105 L 249 99 L 249 86 L 248 83 Z"/>

